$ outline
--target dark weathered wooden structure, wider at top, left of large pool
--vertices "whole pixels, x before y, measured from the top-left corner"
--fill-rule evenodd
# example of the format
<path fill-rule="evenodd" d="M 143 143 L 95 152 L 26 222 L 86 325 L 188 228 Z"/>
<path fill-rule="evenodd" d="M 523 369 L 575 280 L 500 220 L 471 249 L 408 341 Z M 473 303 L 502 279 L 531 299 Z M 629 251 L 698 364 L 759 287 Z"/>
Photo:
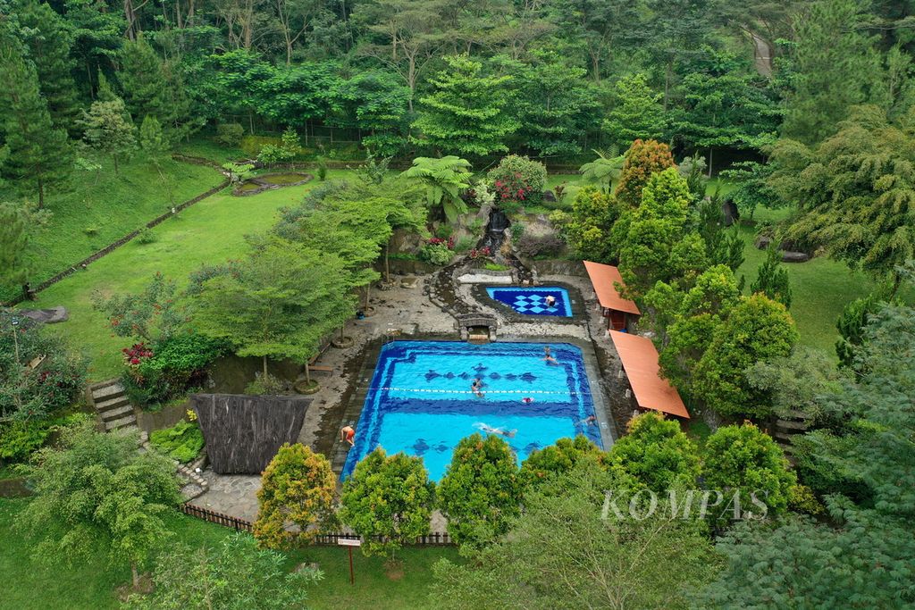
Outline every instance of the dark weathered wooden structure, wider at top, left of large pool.
<path fill-rule="evenodd" d="M 296 443 L 310 398 L 193 394 L 190 397 L 207 443 L 213 472 L 255 475 L 284 443 Z"/>

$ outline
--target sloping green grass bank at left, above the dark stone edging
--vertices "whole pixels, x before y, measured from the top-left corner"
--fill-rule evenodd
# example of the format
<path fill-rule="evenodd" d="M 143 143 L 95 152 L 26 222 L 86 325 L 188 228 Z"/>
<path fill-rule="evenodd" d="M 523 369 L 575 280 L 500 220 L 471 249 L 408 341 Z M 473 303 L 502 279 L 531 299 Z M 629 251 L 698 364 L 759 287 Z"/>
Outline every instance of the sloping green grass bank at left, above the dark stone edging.
<path fill-rule="evenodd" d="M 48 194 L 48 225 L 36 231 L 27 249 L 33 285 L 64 271 L 117 241 L 173 205 L 193 198 L 222 180 L 211 167 L 164 159 L 168 189 L 149 162 L 135 157 L 122 162 L 118 174 L 108 157 L 97 159 L 102 169 L 77 174 L 70 189 Z M 19 286 L 0 289 L 0 299 L 19 294 Z"/>

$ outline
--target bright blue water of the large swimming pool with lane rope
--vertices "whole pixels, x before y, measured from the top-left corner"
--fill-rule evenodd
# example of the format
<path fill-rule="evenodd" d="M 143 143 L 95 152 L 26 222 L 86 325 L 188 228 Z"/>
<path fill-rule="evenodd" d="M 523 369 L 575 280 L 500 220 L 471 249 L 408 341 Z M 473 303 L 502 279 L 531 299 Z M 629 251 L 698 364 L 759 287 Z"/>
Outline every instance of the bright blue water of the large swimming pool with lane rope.
<path fill-rule="evenodd" d="M 544 360 L 549 347 L 556 363 Z M 480 398 L 471 385 L 483 381 Z M 531 398 L 525 403 L 522 399 Z M 382 347 L 342 476 L 381 445 L 421 455 L 429 476 L 445 474 L 458 441 L 481 428 L 503 437 L 519 463 L 534 449 L 585 434 L 603 446 L 581 349 L 567 343 L 393 341 Z"/>

